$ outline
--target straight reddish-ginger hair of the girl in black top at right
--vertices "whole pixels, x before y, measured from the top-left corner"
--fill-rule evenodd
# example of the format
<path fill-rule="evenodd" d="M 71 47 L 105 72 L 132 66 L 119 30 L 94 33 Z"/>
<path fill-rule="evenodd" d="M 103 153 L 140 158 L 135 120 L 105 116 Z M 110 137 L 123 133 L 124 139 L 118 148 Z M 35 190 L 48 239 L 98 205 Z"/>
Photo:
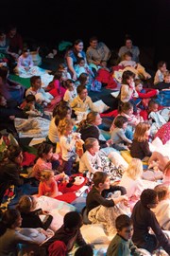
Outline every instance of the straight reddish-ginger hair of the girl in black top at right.
<path fill-rule="evenodd" d="M 145 140 L 145 132 L 150 129 L 150 124 L 148 121 L 140 122 L 136 125 L 133 138 L 139 142 Z"/>

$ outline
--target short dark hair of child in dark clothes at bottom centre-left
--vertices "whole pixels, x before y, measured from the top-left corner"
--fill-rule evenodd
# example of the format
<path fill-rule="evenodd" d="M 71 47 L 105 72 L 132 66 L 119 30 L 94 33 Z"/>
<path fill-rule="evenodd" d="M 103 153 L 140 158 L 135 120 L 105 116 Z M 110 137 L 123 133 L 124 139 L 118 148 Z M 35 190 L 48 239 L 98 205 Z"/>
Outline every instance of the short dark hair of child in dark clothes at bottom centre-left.
<path fill-rule="evenodd" d="M 63 225 L 65 229 L 77 229 L 82 225 L 82 217 L 77 211 L 69 211 L 64 215 Z"/>

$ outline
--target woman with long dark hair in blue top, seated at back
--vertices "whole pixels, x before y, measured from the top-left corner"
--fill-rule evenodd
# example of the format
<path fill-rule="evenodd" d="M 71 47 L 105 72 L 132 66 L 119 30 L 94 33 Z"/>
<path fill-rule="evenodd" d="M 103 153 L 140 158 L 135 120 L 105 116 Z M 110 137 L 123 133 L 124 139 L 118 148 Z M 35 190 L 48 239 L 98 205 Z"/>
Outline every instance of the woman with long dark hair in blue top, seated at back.
<path fill-rule="evenodd" d="M 83 58 L 87 64 L 86 53 L 83 51 L 83 42 L 81 39 L 75 41 L 74 46 L 66 52 L 65 58 L 72 78 L 76 80 L 75 64 L 77 64 L 78 59 Z"/>

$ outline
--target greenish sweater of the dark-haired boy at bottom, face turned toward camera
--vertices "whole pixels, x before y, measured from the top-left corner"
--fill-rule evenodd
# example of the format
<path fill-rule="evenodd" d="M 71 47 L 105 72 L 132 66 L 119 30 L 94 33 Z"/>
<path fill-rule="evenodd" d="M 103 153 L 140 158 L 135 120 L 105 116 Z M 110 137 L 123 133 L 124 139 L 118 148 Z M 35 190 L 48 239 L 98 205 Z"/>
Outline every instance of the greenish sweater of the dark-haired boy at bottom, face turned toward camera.
<path fill-rule="evenodd" d="M 107 249 L 107 256 L 140 256 L 143 255 L 133 244 L 131 239 L 126 240 L 116 234 Z"/>

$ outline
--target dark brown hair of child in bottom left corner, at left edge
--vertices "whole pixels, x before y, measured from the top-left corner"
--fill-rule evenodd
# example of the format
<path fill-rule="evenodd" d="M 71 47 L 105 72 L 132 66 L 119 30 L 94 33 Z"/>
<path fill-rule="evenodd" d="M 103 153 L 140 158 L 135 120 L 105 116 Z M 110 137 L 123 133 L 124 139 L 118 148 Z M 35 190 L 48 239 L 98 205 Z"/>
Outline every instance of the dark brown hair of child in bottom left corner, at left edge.
<path fill-rule="evenodd" d="M 0 221 L 0 236 L 2 236 L 7 229 L 11 229 L 12 225 L 15 224 L 19 216 L 20 211 L 16 209 L 8 209 L 3 213 Z"/>

